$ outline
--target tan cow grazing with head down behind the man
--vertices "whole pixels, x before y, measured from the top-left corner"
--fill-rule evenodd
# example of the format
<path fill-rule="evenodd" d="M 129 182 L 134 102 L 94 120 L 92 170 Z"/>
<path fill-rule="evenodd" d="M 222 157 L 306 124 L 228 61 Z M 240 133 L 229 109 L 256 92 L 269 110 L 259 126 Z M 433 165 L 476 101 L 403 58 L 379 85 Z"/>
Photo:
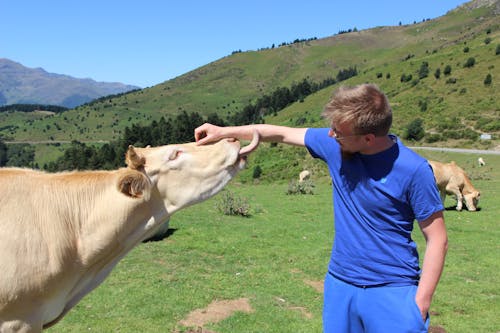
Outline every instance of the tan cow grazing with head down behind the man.
<path fill-rule="evenodd" d="M 476 211 L 480 192 L 474 188 L 465 171 L 455 162 L 441 163 L 429 161 L 434 172 L 434 178 L 444 204 L 446 194 L 453 194 L 457 199 L 456 210 L 462 210 L 462 203 L 469 211 Z"/>

